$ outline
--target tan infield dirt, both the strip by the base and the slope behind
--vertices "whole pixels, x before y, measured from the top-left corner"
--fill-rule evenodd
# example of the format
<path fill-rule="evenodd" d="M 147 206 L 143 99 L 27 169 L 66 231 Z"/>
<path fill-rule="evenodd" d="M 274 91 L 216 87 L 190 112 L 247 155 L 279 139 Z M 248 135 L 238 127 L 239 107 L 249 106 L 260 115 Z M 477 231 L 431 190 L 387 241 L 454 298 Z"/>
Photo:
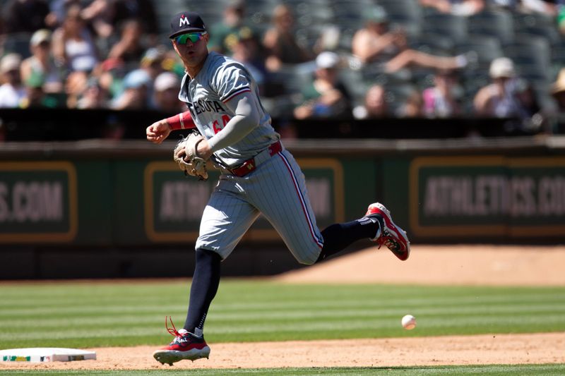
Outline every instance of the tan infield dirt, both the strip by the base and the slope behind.
<path fill-rule="evenodd" d="M 565 247 L 417 245 L 406 262 L 369 248 L 275 277 L 287 283 L 393 283 L 565 286 Z M 339 281 L 335 281 L 339 275 Z M 174 368 L 386 367 L 411 365 L 565 363 L 565 332 L 404 339 L 210 344 L 209 360 Z M 353 351 L 343 351 L 352 348 Z M 97 360 L 0 363 L 6 369 L 168 369 L 154 346 L 94 348 Z"/>

